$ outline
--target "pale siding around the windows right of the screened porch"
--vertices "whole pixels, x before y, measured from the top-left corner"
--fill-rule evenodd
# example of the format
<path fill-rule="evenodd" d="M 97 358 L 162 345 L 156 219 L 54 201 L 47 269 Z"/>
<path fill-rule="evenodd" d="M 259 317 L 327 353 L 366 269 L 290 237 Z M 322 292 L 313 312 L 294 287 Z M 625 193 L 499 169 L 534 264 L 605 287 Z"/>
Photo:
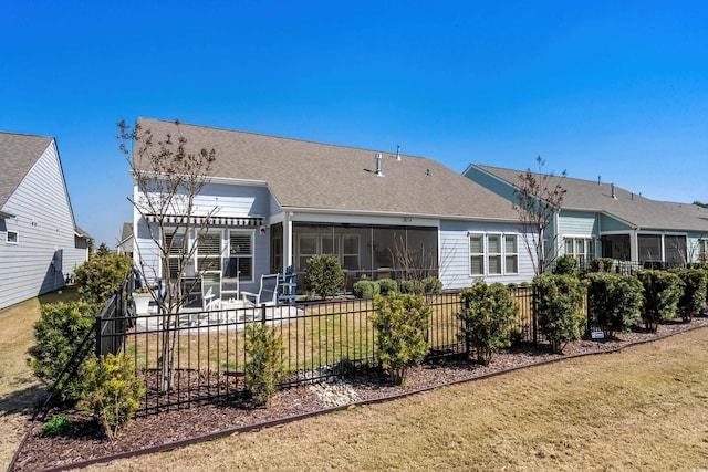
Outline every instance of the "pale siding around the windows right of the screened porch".
<path fill-rule="evenodd" d="M 470 274 L 469 233 L 503 233 L 518 235 L 519 273 L 472 276 Z M 487 283 L 520 283 L 533 280 L 533 264 L 525 249 L 518 223 L 483 223 L 440 221 L 440 280 L 445 289 L 472 286 L 478 280 Z"/>

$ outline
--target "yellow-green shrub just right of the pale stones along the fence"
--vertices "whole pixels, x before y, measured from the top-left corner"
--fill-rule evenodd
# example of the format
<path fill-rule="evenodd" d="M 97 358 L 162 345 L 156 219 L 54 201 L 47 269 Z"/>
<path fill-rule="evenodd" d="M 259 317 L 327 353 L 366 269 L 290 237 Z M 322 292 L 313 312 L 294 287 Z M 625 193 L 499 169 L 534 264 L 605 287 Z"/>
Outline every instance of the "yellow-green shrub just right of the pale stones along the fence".
<path fill-rule="evenodd" d="M 393 382 L 403 384 L 408 367 L 419 364 L 428 353 L 426 333 L 431 310 L 423 296 L 408 294 L 376 295 L 374 308 L 378 360 Z"/>

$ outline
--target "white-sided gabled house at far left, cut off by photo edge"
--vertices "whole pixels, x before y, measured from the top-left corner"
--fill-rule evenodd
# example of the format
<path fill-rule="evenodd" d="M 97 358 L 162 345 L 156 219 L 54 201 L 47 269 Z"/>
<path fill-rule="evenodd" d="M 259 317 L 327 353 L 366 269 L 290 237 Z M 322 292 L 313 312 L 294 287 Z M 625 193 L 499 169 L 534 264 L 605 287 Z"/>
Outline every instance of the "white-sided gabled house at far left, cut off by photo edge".
<path fill-rule="evenodd" d="M 51 137 L 0 133 L 0 308 L 65 285 L 88 258 Z"/>

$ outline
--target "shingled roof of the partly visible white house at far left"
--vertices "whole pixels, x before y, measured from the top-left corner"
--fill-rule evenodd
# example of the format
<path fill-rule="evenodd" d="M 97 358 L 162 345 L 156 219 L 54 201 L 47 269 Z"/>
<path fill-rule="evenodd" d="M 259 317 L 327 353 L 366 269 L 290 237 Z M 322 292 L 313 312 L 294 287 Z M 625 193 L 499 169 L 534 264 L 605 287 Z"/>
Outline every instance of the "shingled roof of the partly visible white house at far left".
<path fill-rule="evenodd" d="M 51 143 L 45 136 L 0 132 L 0 209 Z"/>

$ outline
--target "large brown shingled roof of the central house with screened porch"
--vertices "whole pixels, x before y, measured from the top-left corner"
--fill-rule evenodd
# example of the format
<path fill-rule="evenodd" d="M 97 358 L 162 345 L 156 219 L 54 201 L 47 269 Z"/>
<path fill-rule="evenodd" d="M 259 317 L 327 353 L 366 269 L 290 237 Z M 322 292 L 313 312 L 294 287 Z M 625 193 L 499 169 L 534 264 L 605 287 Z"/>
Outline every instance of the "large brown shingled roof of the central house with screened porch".
<path fill-rule="evenodd" d="M 171 122 L 139 118 L 160 140 Z M 518 220 L 509 201 L 435 160 L 206 126 L 179 125 L 191 151 L 215 149 L 214 177 L 267 182 L 283 208 Z M 384 177 L 375 172 L 382 153 Z"/>

